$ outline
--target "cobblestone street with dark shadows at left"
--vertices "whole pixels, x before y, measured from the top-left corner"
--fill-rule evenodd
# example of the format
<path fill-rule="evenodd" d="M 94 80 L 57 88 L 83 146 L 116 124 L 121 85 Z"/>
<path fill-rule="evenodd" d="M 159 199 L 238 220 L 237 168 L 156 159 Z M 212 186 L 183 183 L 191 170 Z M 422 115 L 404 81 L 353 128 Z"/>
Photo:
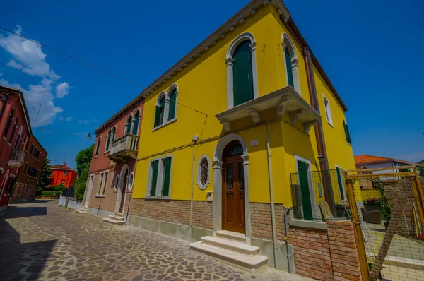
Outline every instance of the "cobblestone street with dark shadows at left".
<path fill-rule="evenodd" d="M 0 215 L 1 280 L 305 280 L 247 273 L 186 241 L 79 215 L 57 201 L 11 205 Z"/>

